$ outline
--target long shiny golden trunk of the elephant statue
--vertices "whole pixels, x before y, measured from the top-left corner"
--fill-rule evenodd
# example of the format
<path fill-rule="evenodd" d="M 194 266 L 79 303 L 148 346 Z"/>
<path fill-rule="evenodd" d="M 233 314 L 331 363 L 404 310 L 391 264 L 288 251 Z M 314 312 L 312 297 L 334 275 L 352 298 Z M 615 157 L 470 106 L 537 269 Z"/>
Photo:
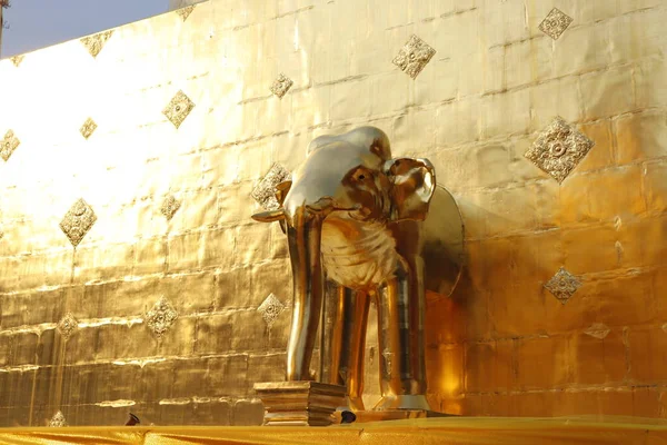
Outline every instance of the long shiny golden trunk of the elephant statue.
<path fill-rule="evenodd" d="M 320 260 L 325 215 L 299 206 L 288 218 L 287 238 L 293 279 L 293 314 L 287 347 L 287 380 L 310 379 L 310 358 L 322 308 Z"/>

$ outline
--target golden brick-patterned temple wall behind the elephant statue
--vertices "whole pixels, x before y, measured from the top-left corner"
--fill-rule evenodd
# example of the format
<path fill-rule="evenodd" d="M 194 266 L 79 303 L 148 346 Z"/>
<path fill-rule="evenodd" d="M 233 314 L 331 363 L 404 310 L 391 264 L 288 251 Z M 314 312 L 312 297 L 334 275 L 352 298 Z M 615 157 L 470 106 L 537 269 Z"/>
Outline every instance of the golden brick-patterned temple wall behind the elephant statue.
<path fill-rule="evenodd" d="M 435 406 L 665 416 L 665 22 L 660 0 L 210 0 L 3 60 L 0 426 L 260 422 L 291 275 L 252 190 L 368 123 L 435 164 L 466 224 L 462 279 L 428 305 Z M 392 63 L 411 34 L 436 50 L 416 79 Z M 595 141 L 561 184 L 524 157 L 556 116 Z"/>

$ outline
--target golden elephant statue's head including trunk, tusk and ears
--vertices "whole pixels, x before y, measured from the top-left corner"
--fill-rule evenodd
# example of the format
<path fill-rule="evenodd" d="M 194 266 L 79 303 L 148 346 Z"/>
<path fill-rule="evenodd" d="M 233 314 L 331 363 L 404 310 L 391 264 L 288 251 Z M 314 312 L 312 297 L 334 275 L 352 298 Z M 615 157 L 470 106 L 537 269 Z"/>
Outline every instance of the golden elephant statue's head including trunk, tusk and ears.
<path fill-rule="evenodd" d="M 424 220 L 435 188 L 435 169 L 428 160 L 392 159 L 388 137 L 377 128 L 361 127 L 315 139 L 291 181 L 277 187 L 281 207 L 252 217 L 280 220 L 287 231 L 293 276 L 288 380 L 309 377 L 325 281 L 322 227 L 345 221 L 346 234 L 365 225 Z"/>

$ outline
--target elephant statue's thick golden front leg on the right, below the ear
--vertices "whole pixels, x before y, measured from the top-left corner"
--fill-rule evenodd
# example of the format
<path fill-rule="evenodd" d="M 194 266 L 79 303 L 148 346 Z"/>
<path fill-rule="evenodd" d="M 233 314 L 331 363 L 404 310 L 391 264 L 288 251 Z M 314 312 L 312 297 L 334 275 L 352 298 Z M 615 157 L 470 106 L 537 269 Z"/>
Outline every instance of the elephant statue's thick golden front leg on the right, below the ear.
<path fill-rule="evenodd" d="M 400 265 L 378 293 L 380 390 L 375 409 L 430 409 L 426 399 L 424 286 Z"/>

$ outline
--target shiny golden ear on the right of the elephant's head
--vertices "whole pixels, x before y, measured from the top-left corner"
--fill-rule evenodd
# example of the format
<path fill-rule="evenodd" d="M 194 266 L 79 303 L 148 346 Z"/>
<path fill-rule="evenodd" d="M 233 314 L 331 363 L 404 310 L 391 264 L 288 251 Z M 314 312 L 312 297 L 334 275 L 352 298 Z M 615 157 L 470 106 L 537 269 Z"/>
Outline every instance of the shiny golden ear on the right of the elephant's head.
<path fill-rule="evenodd" d="M 398 158 L 385 162 L 391 181 L 391 220 L 424 220 L 436 191 L 436 169 L 428 159 Z"/>

